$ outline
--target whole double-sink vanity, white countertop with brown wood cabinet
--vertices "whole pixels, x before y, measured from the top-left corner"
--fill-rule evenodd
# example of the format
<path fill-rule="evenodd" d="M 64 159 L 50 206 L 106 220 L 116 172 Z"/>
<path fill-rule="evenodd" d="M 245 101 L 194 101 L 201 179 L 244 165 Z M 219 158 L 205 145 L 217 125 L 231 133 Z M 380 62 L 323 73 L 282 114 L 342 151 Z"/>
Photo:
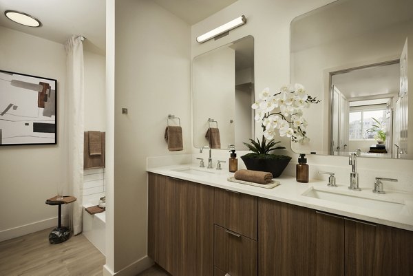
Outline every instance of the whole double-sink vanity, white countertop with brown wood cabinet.
<path fill-rule="evenodd" d="M 413 275 L 412 194 L 290 177 L 264 189 L 190 165 L 148 172 L 148 255 L 171 275 Z"/>

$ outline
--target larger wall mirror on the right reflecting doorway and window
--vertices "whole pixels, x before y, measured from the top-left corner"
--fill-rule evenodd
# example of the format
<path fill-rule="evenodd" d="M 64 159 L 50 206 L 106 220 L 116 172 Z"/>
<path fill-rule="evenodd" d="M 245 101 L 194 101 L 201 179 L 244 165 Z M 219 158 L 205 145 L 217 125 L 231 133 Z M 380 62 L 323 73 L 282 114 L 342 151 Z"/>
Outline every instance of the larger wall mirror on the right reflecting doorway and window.
<path fill-rule="evenodd" d="M 295 18 L 290 39 L 291 83 L 322 100 L 293 151 L 413 159 L 412 0 L 338 0 Z"/>

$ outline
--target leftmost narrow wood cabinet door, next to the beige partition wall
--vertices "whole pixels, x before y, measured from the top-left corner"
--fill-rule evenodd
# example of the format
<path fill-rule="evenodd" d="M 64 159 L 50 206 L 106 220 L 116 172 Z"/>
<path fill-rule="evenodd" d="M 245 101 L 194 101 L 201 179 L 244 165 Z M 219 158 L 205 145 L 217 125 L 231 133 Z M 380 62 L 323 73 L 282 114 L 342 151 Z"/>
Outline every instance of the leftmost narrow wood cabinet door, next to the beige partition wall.
<path fill-rule="evenodd" d="M 149 173 L 148 255 L 172 275 L 175 273 L 175 184 Z"/>

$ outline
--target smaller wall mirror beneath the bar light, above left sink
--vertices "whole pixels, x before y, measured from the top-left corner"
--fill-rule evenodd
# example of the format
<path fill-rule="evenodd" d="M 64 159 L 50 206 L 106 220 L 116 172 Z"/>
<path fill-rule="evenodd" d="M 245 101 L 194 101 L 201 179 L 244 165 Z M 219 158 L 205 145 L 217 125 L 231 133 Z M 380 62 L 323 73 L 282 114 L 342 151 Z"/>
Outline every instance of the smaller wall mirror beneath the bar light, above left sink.
<path fill-rule="evenodd" d="M 193 146 L 209 145 L 209 128 L 218 128 L 220 147 L 254 137 L 254 39 L 246 36 L 192 62 Z"/>

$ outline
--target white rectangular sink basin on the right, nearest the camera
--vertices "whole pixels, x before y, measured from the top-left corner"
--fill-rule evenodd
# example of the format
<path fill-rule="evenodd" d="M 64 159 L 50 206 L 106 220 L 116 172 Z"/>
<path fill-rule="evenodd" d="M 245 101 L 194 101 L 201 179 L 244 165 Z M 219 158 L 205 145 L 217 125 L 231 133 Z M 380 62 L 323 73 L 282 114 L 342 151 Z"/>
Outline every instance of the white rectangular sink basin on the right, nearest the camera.
<path fill-rule="evenodd" d="M 332 188 L 334 189 L 334 188 Z M 388 198 L 367 198 L 359 195 L 350 195 L 337 191 L 325 191 L 321 189 L 310 189 L 302 195 L 319 200 L 328 200 L 330 202 L 339 202 L 358 206 L 370 210 L 388 211 L 391 213 L 401 213 L 405 204 L 402 200 L 392 200 Z M 373 195 L 374 196 L 374 195 Z"/>

